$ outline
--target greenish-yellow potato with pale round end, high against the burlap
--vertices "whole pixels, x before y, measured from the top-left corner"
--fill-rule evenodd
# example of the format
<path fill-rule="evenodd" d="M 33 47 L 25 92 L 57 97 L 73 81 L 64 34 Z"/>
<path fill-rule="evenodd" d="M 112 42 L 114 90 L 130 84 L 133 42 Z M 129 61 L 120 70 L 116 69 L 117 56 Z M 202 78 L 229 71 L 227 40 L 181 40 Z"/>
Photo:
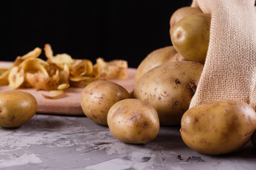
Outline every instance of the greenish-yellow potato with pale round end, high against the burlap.
<path fill-rule="evenodd" d="M 205 62 L 210 39 L 210 14 L 182 18 L 171 29 L 171 42 L 186 60 Z"/>

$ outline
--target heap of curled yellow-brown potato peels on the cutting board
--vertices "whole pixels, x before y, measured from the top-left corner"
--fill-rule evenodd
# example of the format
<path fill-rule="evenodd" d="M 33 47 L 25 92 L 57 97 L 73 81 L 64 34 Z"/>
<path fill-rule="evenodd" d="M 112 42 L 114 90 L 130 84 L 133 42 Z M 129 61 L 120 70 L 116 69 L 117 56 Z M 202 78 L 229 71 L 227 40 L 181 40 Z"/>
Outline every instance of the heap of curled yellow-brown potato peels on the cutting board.
<path fill-rule="evenodd" d="M 0 68 L 0 85 L 9 84 L 10 89 L 22 86 L 44 91 L 63 91 L 69 87 L 83 88 L 98 79 L 127 77 L 128 65 L 125 60 L 105 62 L 98 58 L 92 64 L 90 60 L 73 59 L 66 53 L 53 55 L 50 44 L 46 44 L 43 50 L 46 61 L 38 58 L 42 50 L 36 47 L 26 55 L 16 57 L 11 67 Z M 63 97 L 56 93 L 45 96 L 52 99 Z"/>

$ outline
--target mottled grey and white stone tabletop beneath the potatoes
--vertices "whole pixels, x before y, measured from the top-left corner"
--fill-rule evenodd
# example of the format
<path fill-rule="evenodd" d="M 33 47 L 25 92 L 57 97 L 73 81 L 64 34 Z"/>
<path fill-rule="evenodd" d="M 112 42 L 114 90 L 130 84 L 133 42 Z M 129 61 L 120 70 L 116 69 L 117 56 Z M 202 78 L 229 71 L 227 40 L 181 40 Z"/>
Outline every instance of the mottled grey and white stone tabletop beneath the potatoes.
<path fill-rule="evenodd" d="M 129 145 L 85 116 L 36 114 L 21 128 L 0 128 L 0 169 L 255 169 L 248 142 L 225 156 L 186 147 L 178 127 L 161 127 L 155 140 Z"/>

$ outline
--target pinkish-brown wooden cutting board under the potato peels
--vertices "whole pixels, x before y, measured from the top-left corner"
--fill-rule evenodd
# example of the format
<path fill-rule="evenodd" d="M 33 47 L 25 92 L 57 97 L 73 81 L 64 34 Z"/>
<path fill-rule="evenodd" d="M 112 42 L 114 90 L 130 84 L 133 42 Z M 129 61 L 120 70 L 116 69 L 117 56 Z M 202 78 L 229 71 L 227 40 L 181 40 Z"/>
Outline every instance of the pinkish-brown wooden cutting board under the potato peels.
<path fill-rule="evenodd" d="M 12 62 L 0 62 L 0 67 L 9 67 Z M 129 93 L 134 91 L 134 75 L 136 69 L 128 69 L 127 79 L 110 79 L 123 86 Z M 42 94 L 48 94 L 48 91 L 36 91 L 35 89 L 18 89 L 27 91 L 36 97 L 38 101 L 38 113 L 58 114 L 58 115 L 84 115 L 80 106 L 81 94 L 83 88 L 70 87 L 65 90 L 66 96 L 58 99 L 44 98 Z M 10 90 L 9 86 L 0 86 L 0 91 Z"/>

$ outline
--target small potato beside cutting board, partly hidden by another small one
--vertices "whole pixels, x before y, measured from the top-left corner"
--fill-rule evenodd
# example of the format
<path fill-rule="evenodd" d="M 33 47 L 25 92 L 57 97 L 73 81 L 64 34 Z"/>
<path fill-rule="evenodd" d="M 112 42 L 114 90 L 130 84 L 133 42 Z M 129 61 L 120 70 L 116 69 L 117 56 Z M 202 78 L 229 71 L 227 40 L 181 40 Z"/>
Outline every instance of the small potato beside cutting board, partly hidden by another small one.
<path fill-rule="evenodd" d="M 129 97 L 129 92 L 119 84 L 105 80 L 93 81 L 82 90 L 82 111 L 95 123 L 107 125 L 107 112 L 110 107 Z"/>

